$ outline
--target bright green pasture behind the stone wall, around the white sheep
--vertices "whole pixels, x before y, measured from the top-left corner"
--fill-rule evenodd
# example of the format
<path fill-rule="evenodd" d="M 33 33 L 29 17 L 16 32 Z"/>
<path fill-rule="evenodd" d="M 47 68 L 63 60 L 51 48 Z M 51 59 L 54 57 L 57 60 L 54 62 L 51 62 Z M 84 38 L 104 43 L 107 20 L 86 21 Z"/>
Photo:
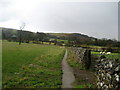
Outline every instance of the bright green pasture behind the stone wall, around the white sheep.
<path fill-rule="evenodd" d="M 96 56 L 100 56 L 100 52 L 95 52 L 95 51 L 92 51 L 91 54 L 96 54 Z M 120 59 L 120 53 L 111 53 L 110 55 L 105 55 L 106 58 L 109 58 L 109 59 Z"/>

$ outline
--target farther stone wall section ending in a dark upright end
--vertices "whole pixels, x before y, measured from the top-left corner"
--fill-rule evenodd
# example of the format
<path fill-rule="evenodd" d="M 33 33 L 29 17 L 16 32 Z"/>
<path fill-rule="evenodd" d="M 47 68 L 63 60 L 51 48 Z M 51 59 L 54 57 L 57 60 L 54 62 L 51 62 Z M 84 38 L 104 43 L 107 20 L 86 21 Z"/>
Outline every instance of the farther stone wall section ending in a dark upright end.
<path fill-rule="evenodd" d="M 75 55 L 79 63 L 84 69 L 89 69 L 91 64 L 90 50 L 81 47 L 71 47 L 71 51 Z"/>

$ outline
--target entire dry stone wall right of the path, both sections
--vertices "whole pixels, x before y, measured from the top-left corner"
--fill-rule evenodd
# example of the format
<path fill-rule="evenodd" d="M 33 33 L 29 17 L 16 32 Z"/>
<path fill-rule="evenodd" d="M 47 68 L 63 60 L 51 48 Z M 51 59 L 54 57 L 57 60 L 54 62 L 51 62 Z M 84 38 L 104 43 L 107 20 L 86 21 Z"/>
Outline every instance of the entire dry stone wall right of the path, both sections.
<path fill-rule="evenodd" d="M 120 61 L 100 58 L 92 60 L 90 50 L 71 47 L 71 51 L 85 69 L 96 70 L 96 87 L 100 90 L 120 90 Z"/>

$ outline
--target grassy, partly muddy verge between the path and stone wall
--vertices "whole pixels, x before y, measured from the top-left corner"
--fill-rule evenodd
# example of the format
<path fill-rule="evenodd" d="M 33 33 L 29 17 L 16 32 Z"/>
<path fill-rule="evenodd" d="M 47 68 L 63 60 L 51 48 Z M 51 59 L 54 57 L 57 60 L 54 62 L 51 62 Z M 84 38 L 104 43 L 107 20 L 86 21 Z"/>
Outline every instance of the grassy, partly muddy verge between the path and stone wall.
<path fill-rule="evenodd" d="M 75 55 L 68 49 L 68 64 L 73 68 L 75 75 L 74 88 L 94 88 L 93 82 L 95 77 L 92 72 L 82 69 L 82 65 L 78 63 Z M 89 80 L 88 80 L 89 79 Z"/>

